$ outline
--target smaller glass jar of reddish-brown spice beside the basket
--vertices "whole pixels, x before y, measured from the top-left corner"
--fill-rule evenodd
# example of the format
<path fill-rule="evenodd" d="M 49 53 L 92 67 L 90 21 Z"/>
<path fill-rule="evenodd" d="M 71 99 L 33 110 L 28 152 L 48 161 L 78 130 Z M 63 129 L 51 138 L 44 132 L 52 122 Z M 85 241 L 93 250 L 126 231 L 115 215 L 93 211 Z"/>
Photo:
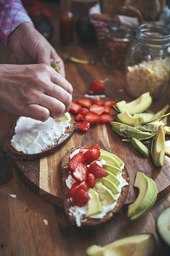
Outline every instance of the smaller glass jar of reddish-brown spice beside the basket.
<path fill-rule="evenodd" d="M 132 30 L 126 26 L 115 25 L 106 34 L 103 64 L 109 68 L 124 68 Z"/>

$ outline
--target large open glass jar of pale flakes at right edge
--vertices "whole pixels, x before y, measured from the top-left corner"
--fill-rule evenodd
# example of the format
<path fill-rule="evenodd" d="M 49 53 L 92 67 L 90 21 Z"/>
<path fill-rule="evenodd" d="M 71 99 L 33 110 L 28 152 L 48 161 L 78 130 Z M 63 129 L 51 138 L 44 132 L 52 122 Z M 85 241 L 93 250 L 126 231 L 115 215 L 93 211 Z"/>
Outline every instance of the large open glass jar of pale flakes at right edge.
<path fill-rule="evenodd" d="M 152 99 L 163 94 L 170 66 L 170 29 L 143 24 L 138 27 L 126 60 L 126 90 L 137 98 L 150 92 Z"/>

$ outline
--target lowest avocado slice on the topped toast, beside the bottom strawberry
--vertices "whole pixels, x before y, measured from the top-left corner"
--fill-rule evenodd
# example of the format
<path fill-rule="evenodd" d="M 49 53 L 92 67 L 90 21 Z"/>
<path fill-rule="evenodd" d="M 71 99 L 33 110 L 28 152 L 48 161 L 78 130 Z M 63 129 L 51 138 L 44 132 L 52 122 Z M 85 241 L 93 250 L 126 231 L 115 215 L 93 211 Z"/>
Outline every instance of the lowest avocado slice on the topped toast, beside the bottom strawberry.
<path fill-rule="evenodd" d="M 91 195 L 91 197 L 88 201 L 88 210 L 86 217 L 102 213 L 102 204 L 100 202 L 97 192 L 94 189 L 89 188 L 88 193 Z"/>

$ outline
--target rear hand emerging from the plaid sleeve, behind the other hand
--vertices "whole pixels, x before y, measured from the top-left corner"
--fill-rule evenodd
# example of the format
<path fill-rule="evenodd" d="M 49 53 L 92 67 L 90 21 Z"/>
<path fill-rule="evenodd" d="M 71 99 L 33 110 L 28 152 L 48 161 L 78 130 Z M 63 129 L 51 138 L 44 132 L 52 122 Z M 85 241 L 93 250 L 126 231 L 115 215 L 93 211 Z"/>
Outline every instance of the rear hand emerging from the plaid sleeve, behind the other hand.
<path fill-rule="evenodd" d="M 48 41 L 29 22 L 19 25 L 8 37 L 8 47 L 18 64 L 56 62 L 65 77 L 64 63 Z"/>

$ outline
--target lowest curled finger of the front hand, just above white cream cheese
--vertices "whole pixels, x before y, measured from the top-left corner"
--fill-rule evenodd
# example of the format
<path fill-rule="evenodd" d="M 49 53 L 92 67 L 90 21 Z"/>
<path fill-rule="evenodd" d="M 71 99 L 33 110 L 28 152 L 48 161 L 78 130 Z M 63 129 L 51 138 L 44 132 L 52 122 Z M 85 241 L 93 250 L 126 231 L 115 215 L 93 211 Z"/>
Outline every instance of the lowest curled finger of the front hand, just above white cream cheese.
<path fill-rule="evenodd" d="M 28 104 L 23 108 L 20 115 L 45 122 L 50 116 L 50 111 L 47 108 L 37 104 Z"/>

